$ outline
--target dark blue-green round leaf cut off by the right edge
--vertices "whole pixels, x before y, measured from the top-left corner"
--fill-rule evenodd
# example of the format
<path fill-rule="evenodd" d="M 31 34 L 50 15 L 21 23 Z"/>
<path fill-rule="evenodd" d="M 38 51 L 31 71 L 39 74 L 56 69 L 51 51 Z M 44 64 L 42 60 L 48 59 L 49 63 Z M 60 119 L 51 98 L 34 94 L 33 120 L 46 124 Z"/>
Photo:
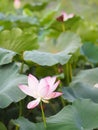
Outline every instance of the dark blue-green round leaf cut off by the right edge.
<path fill-rule="evenodd" d="M 81 47 L 82 54 L 92 63 L 98 63 L 98 45 L 84 43 Z"/>

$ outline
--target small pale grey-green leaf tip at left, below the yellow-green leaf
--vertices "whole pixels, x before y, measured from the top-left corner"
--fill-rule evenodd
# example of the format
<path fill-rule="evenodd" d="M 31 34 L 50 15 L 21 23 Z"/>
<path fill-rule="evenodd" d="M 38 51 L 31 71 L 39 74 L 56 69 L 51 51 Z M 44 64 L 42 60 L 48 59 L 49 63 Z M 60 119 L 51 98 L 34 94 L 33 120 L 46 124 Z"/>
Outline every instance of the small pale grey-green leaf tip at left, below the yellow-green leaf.
<path fill-rule="evenodd" d="M 15 52 L 0 48 L 0 65 L 8 64 L 12 62 Z"/>

